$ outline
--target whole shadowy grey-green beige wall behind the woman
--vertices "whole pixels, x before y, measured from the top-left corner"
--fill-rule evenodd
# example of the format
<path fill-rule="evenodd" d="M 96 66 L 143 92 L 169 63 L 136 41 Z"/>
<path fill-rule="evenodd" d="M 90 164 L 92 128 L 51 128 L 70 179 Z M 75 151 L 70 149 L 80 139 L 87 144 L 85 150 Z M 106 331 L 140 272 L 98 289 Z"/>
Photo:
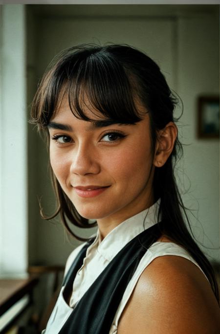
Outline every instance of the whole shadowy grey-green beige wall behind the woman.
<path fill-rule="evenodd" d="M 43 7 L 28 6 L 29 101 L 45 67 L 63 48 L 78 43 L 112 42 L 127 43 L 147 52 L 184 103 L 179 131 L 182 142 L 190 145 L 184 147 L 184 159 L 178 164 L 186 176 L 182 171 L 178 171 L 178 176 L 191 180 L 185 203 L 191 208 L 199 205 L 200 223 L 190 215 L 192 225 L 200 241 L 203 228 L 213 244 L 219 246 L 219 141 L 198 140 L 196 136 L 197 96 L 218 93 L 219 89 L 218 10 L 192 5 Z M 63 264 L 78 243 L 66 240 L 58 219 L 54 223 L 40 219 L 37 196 L 43 196 L 48 213 L 53 212 L 54 198 L 47 175 L 47 153 L 31 126 L 29 143 L 29 260 Z M 204 242 L 210 246 L 208 238 Z M 216 259 L 219 256 L 218 251 L 208 253 Z"/>

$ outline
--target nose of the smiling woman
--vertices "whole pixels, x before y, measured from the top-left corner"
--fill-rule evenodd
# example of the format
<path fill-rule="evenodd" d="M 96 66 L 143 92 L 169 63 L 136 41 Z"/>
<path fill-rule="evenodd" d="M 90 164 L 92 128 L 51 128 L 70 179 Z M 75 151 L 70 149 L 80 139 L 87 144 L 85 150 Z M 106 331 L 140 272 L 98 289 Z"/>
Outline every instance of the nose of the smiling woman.
<path fill-rule="evenodd" d="M 89 145 L 81 145 L 75 148 L 71 160 L 70 173 L 84 176 L 100 172 L 97 153 Z"/>

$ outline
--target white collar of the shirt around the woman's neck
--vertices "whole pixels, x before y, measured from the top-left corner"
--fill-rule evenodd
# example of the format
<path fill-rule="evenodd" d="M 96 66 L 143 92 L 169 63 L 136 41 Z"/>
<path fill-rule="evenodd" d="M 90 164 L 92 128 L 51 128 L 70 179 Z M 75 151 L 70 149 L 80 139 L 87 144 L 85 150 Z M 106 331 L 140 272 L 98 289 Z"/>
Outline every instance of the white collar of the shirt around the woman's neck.
<path fill-rule="evenodd" d="M 98 231 L 91 248 L 97 247 L 97 252 L 106 260 L 111 261 L 134 237 L 158 222 L 159 205 L 160 199 L 148 209 L 120 223 L 110 231 L 101 243 L 99 243 L 100 236 Z"/>

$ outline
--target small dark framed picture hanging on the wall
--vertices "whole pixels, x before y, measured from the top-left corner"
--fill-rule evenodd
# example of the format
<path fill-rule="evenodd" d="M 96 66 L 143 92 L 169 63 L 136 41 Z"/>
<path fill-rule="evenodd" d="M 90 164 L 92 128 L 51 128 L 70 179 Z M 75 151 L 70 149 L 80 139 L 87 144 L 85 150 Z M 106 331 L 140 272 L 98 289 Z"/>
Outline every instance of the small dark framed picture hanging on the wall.
<path fill-rule="evenodd" d="M 219 138 L 219 96 L 198 97 L 198 138 Z"/>

